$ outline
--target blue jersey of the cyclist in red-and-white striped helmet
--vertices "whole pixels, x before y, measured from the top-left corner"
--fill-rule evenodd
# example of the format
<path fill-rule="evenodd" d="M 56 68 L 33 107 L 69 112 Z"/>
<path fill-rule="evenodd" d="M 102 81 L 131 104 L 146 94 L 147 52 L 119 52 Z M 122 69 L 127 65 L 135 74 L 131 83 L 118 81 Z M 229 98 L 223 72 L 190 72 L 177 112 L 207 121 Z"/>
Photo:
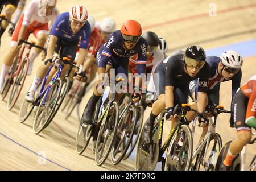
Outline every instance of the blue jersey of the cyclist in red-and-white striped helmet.
<path fill-rule="evenodd" d="M 80 48 L 86 49 L 90 39 L 90 24 L 88 21 L 86 21 L 84 26 L 82 26 L 76 34 L 73 34 L 69 23 L 69 13 L 65 12 L 60 14 L 56 19 L 52 26 L 50 35 L 55 35 L 58 38 L 66 40 L 67 42 L 79 40 L 81 37 Z"/>

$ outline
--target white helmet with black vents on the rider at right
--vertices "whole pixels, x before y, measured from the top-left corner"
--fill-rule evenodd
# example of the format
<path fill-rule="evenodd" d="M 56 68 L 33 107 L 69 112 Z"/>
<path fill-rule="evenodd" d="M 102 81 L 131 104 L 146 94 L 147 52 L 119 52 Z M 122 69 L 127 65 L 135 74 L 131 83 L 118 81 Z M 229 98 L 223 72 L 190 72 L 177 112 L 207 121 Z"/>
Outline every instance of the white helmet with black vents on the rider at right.
<path fill-rule="evenodd" d="M 229 68 L 239 69 L 242 67 L 243 58 L 236 51 L 224 51 L 221 55 L 222 63 Z"/>

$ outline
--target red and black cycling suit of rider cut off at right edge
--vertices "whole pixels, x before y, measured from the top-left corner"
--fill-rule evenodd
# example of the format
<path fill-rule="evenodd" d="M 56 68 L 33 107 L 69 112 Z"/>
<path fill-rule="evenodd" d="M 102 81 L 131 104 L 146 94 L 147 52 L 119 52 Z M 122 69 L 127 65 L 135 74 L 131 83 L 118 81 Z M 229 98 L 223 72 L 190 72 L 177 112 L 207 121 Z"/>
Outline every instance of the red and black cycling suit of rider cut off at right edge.
<path fill-rule="evenodd" d="M 251 130 L 251 127 L 246 125 L 246 120 L 250 117 L 256 117 L 256 75 L 243 84 L 235 94 L 234 122 L 237 131 Z"/>

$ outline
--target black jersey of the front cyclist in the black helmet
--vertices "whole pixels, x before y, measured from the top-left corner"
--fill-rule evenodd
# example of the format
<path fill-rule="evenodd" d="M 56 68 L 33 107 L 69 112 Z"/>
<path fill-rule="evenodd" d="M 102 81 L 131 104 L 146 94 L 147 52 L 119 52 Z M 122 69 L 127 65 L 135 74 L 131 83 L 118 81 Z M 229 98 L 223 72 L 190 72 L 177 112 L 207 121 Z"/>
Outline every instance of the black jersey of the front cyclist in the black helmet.
<path fill-rule="evenodd" d="M 156 67 L 154 73 L 154 85 L 157 96 L 165 93 L 166 86 L 174 86 L 174 105 L 187 102 L 189 82 L 195 80 L 195 78 L 199 78 L 200 80 L 199 91 L 207 92 L 209 64 L 205 63 L 197 75 L 191 77 L 185 72 L 183 59 L 184 51 L 175 53 L 164 59 L 158 67 Z"/>

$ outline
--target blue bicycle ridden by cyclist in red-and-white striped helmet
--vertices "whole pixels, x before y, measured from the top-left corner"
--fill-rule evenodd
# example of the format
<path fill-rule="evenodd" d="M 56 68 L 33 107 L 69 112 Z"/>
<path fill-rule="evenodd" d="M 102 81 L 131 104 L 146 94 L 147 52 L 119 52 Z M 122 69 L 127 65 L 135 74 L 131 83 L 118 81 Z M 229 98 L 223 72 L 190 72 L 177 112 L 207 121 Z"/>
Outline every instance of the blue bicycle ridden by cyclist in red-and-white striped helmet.
<path fill-rule="evenodd" d="M 38 96 L 36 96 L 35 101 L 27 102 L 24 99 L 22 106 L 20 107 L 20 122 L 24 122 L 28 118 L 31 112 L 35 110 L 35 106 L 38 107 L 36 109 L 33 124 L 33 131 L 35 134 L 40 133 L 40 131 L 42 131 L 49 125 L 49 123 L 52 121 L 53 117 L 57 113 L 57 110 L 59 109 L 61 102 L 63 101 L 63 99 L 61 99 L 61 94 L 63 94 L 62 92 L 65 89 L 63 89 L 63 81 L 60 78 L 61 72 L 64 67 L 63 61 L 68 62 L 70 61 L 70 59 L 67 57 L 63 57 L 63 59 L 61 59 L 58 54 L 53 55 L 52 63 L 54 62 L 55 64 L 49 67 L 47 75 L 42 82 L 42 86 L 39 89 L 39 93 Z M 73 63 L 68 64 L 70 64 L 71 67 L 79 68 L 79 73 L 81 73 L 82 65 L 78 67 Z M 53 67 L 57 68 L 57 73 L 55 77 L 53 77 L 53 79 L 46 86 L 47 78 Z"/>

